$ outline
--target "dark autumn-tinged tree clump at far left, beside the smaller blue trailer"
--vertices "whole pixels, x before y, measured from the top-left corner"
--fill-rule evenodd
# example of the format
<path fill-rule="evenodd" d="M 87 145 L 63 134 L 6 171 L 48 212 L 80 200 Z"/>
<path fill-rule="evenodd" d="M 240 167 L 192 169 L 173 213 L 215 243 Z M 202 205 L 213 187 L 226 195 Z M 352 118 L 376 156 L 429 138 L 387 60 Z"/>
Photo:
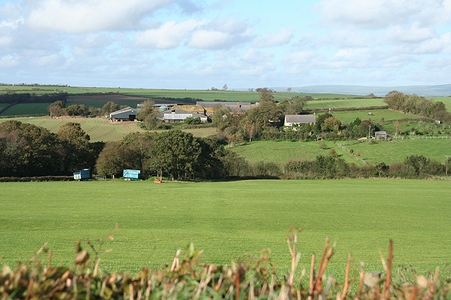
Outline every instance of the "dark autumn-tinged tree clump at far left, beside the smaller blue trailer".
<path fill-rule="evenodd" d="M 56 133 L 15 120 L 0 123 L 0 177 L 70 175 L 94 169 L 104 143 L 89 142 L 79 123 Z"/>

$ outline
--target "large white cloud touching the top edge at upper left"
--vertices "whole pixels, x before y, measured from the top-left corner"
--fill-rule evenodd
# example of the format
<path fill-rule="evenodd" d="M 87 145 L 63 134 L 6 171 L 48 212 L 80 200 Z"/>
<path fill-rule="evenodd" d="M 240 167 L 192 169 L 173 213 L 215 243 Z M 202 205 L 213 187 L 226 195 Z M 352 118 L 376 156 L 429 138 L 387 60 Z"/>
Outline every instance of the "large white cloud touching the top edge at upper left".
<path fill-rule="evenodd" d="M 72 34 L 131 30 L 143 15 L 175 0 L 43 0 L 27 18 L 33 30 Z"/>

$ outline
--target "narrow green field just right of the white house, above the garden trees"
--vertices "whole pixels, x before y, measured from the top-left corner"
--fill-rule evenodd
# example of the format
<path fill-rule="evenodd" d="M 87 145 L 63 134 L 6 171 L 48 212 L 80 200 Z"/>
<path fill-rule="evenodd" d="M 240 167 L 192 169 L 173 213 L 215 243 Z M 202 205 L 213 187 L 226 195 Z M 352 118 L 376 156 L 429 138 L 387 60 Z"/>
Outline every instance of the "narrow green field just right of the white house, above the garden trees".
<path fill-rule="evenodd" d="M 373 115 L 368 115 L 371 112 Z M 362 121 L 366 119 L 371 119 L 374 122 L 381 122 L 381 119 L 385 121 L 395 120 L 395 119 L 421 119 L 419 116 L 407 115 L 402 112 L 395 112 L 393 110 L 349 110 L 344 112 L 332 112 L 334 117 L 338 117 L 342 124 L 350 124 L 357 117 Z"/>

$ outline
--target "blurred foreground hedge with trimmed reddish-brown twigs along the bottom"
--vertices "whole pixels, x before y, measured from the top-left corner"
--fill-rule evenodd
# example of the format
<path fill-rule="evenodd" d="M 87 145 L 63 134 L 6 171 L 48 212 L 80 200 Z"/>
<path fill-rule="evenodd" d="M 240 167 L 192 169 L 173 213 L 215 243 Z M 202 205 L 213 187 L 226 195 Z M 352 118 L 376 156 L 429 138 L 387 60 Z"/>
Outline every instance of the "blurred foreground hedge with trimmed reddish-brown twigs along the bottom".
<path fill-rule="evenodd" d="M 299 230 L 300 231 L 300 230 Z M 113 240 L 111 235 L 108 238 Z M 450 299 L 450 280 L 440 279 L 438 269 L 426 278 L 414 275 L 412 280 L 393 278 L 393 242 L 390 241 L 388 259 L 381 261 L 384 275 L 373 283 L 366 280 L 364 266 L 350 278 L 352 257 L 348 256 L 345 280 L 338 282 L 326 278 L 324 271 L 333 255 L 333 247 L 326 240 L 319 266 L 315 268 L 316 255 L 311 256 L 310 270 L 297 276 L 300 254 L 297 253 L 297 230 L 287 235 L 292 264 L 290 273 L 282 278 L 276 275 L 268 252 L 258 258 L 231 261 L 230 266 L 201 264 L 197 260 L 202 251 L 192 244 L 180 257 L 180 250 L 166 268 L 151 271 L 142 268 L 136 275 L 109 274 L 101 270 L 100 246 L 89 240 L 90 253 L 76 244 L 75 266 L 51 266 L 51 251 L 46 245 L 27 263 L 18 263 L 13 270 L 3 266 L 0 273 L 1 299 Z M 49 253 L 48 264 L 38 258 Z M 309 272 L 309 273 L 307 273 Z M 377 278 L 377 277 L 376 277 Z M 305 280 L 304 280 L 305 279 Z M 395 279 L 395 280 L 393 280 Z M 307 283 L 304 283 L 307 282 Z"/>

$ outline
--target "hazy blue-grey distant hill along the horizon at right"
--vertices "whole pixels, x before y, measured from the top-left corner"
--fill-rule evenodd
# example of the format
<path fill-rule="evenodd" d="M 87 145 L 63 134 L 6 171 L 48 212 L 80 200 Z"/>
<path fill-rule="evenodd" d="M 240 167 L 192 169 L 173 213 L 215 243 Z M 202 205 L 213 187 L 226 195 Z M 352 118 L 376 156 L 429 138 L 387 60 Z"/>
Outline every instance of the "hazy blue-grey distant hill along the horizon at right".
<path fill-rule="evenodd" d="M 271 88 L 274 91 L 287 91 L 285 87 Z M 390 91 L 400 91 L 402 93 L 415 93 L 425 97 L 451 96 L 451 84 L 441 84 L 437 86 L 340 86 L 340 85 L 319 85 L 292 87 L 292 92 L 297 93 L 341 93 L 346 95 L 366 96 L 373 93 L 376 96 L 385 96 Z"/>

